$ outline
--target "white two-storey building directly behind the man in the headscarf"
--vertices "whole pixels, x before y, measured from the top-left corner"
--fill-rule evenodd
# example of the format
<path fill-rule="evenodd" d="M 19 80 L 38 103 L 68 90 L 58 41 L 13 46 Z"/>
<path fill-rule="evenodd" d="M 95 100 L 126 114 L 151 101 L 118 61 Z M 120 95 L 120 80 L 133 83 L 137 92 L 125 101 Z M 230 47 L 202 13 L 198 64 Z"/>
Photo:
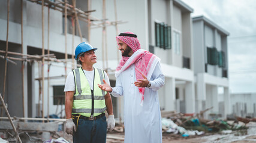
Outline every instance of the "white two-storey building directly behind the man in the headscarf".
<path fill-rule="evenodd" d="M 118 33 L 134 32 L 138 36 L 141 48 L 161 58 L 161 67 L 165 75 L 165 86 L 159 90 L 161 109 L 195 113 L 194 54 L 190 16 L 192 8 L 177 0 L 117 1 L 117 5 L 118 20 L 127 21 L 118 25 Z M 92 15 L 100 17 L 101 7 L 100 1 L 92 1 L 92 9 L 97 10 Z M 115 20 L 113 3 L 108 2 L 106 9 L 109 20 Z M 100 32 L 101 29 L 92 30 L 92 35 L 97 35 L 97 38 L 92 39 L 91 43 L 97 48 L 101 47 L 101 35 L 97 34 Z M 111 51 L 107 53 L 108 64 L 114 71 L 118 66 L 117 59 L 121 58 L 115 36 L 115 27 L 107 27 L 107 47 Z M 101 57 L 101 54 L 98 54 L 98 58 Z M 114 83 L 112 86 L 115 86 L 114 72 L 109 74 Z M 112 100 L 115 101 L 115 97 Z M 118 102 L 114 104 L 118 105 Z"/>

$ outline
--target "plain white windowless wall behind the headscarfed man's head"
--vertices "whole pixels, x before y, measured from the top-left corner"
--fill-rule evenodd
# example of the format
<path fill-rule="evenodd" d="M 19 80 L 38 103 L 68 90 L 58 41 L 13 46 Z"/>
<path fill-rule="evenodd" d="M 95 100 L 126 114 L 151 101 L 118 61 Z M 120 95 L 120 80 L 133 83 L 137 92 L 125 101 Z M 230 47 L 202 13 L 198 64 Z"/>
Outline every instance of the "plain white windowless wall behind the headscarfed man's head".
<path fill-rule="evenodd" d="M 92 10 L 97 10 L 92 15 L 94 17 L 102 18 L 102 1 L 92 1 Z M 148 33 L 147 33 L 147 1 L 116 1 L 118 20 L 126 23 L 118 24 L 118 34 L 121 32 L 131 31 L 138 36 L 141 48 L 148 49 Z M 122 7 L 121 7 L 122 5 Z M 132 9 L 131 9 L 132 8 Z M 108 21 L 115 21 L 114 3 L 112 1 L 106 2 L 106 17 Z M 116 60 L 121 58 L 120 51 L 115 36 L 115 26 L 108 26 L 107 30 L 107 57 L 109 60 Z M 102 28 L 91 30 L 91 45 L 102 51 Z M 111 52 L 110 52 L 111 51 Z M 106 51 L 105 51 L 106 54 Z M 98 54 L 98 59 L 102 60 L 102 53 Z M 117 63 L 116 63 L 117 64 Z M 116 65 L 117 66 L 117 65 Z"/>

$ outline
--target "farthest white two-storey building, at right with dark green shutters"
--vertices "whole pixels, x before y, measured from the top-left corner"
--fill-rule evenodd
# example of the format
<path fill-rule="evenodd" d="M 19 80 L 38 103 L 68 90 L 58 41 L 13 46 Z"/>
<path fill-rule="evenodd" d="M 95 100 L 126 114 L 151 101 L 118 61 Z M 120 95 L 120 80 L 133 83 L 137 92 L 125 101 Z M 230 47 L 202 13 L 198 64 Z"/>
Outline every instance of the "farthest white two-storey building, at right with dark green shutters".
<path fill-rule="evenodd" d="M 222 114 L 223 117 L 230 113 L 228 35 L 227 31 L 204 16 L 193 18 L 197 112 L 213 107 L 207 114 Z"/>

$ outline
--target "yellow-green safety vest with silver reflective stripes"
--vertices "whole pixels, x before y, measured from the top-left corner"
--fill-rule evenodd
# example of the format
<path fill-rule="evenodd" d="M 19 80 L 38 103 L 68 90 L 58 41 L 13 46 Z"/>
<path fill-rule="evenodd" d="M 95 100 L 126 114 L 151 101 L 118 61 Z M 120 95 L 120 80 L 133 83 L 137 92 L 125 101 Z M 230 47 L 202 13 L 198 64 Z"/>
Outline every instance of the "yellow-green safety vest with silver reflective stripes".
<path fill-rule="evenodd" d="M 82 67 L 73 70 L 76 93 L 73 98 L 72 114 L 81 114 L 91 117 L 105 113 L 105 95 L 107 92 L 101 90 L 98 84 L 104 84 L 104 70 L 94 69 L 94 88 L 91 90 Z"/>

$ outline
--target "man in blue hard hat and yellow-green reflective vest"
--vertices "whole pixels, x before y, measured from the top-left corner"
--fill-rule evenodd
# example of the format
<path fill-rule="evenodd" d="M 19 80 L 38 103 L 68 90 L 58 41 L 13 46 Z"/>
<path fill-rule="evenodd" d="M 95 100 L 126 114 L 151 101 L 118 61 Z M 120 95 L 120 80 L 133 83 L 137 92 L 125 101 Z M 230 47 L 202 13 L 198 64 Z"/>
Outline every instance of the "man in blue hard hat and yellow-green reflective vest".
<path fill-rule="evenodd" d="M 111 131 L 115 127 L 110 94 L 97 86 L 103 80 L 109 83 L 109 77 L 94 68 L 95 50 L 85 42 L 76 47 L 76 60 L 82 67 L 68 73 L 65 83 L 66 132 L 73 135 L 73 142 L 106 142 L 107 128 Z"/>

